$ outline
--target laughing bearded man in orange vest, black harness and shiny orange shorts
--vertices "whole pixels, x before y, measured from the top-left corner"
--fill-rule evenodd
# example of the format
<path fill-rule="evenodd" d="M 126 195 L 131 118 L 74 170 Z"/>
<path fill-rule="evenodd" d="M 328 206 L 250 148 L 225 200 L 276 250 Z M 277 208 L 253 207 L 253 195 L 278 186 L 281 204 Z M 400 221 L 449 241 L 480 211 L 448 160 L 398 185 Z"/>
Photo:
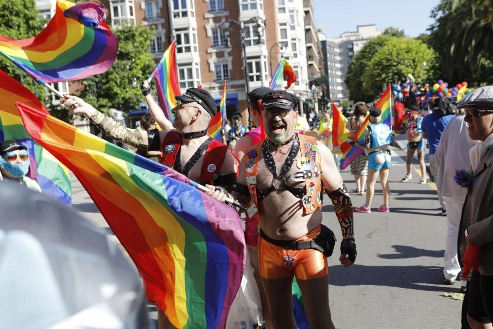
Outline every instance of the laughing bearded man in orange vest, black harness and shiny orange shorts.
<path fill-rule="evenodd" d="M 330 150 L 315 138 L 293 133 L 298 99 L 284 91 L 262 99 L 267 139 L 250 147 L 232 196 L 259 217 L 260 275 L 274 328 L 295 329 L 291 285 L 296 277 L 310 326 L 334 328 L 328 302 L 327 256 L 334 235 L 321 225 L 322 187 L 332 200 L 343 240 L 339 260 L 356 259 L 351 198 Z M 279 168 L 279 169 L 278 169 Z M 210 193 L 224 200 L 222 191 Z"/>

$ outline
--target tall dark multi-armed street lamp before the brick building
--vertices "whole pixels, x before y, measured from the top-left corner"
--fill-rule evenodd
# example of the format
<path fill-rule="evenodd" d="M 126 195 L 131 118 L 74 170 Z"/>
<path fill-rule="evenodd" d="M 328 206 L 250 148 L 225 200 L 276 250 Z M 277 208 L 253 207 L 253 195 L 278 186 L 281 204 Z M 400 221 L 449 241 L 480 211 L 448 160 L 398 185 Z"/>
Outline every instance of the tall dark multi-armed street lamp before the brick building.
<path fill-rule="evenodd" d="M 228 24 L 226 25 L 226 23 Z M 248 100 L 248 94 L 250 93 L 250 85 L 248 81 L 248 65 L 246 62 L 246 45 L 245 45 L 246 33 L 250 31 L 250 26 L 255 27 L 258 32 L 257 43 L 258 44 L 262 43 L 262 32 L 265 30 L 265 19 L 255 16 L 241 23 L 235 20 L 227 20 L 219 24 L 219 27 L 221 27 L 221 29 L 231 29 L 230 23 L 233 23 L 240 28 L 240 40 L 242 42 L 242 51 L 243 51 L 243 74 L 245 75 L 245 88 L 246 88 L 245 99 Z M 227 47 L 231 48 L 231 43 L 229 42 L 229 33 L 227 35 Z M 249 125 L 251 125 L 252 119 L 251 119 L 251 113 L 249 107 L 248 107 L 248 122 Z"/>

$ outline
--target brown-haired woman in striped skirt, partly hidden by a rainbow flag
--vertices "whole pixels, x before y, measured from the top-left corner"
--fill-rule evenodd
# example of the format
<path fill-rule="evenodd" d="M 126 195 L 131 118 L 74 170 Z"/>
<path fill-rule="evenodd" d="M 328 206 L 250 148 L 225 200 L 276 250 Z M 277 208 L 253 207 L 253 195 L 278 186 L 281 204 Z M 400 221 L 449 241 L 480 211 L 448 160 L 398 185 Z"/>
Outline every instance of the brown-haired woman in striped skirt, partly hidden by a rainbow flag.
<path fill-rule="evenodd" d="M 363 102 L 354 105 L 354 116 L 346 124 L 350 132 L 355 133 L 363 124 L 368 112 L 368 107 Z M 368 176 L 368 155 L 360 154 L 351 162 L 351 174 L 356 182 L 356 193 L 365 193 L 366 178 Z"/>

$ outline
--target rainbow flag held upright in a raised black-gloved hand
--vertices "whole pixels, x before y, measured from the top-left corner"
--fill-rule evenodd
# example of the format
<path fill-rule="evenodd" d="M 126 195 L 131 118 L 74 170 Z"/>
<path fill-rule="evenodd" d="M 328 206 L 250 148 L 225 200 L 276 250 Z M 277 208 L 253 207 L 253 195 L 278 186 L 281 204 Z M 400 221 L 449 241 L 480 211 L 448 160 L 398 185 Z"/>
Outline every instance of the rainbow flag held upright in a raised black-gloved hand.
<path fill-rule="evenodd" d="M 175 96 L 181 95 L 176 73 L 175 48 L 176 41 L 173 40 L 150 75 L 150 77 L 154 77 L 159 105 L 163 109 L 166 118 L 171 122 L 173 122 L 171 110 L 176 107 Z"/>

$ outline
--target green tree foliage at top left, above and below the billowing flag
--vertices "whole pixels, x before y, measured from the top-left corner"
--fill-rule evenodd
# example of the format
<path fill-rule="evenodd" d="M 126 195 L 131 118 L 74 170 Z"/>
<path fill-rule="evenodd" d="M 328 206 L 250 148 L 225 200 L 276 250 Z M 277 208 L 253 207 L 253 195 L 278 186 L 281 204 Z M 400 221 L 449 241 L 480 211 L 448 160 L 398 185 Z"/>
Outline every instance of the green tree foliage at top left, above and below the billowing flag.
<path fill-rule="evenodd" d="M 12 39 L 34 37 L 46 23 L 35 8 L 35 0 L 0 0 L 0 36 Z M 36 82 L 29 75 L 3 55 L 0 55 L 0 70 L 22 82 L 40 100 L 45 99 L 45 88 L 35 86 Z"/>

